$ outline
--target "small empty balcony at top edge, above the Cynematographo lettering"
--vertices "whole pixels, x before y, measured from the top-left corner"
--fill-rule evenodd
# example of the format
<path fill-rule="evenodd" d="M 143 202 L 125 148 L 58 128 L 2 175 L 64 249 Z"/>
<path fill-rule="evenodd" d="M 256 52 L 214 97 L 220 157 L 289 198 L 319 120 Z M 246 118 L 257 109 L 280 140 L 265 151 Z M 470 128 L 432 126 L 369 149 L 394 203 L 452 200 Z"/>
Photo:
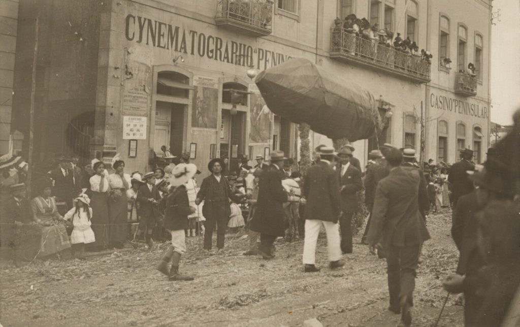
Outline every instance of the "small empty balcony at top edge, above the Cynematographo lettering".
<path fill-rule="evenodd" d="M 269 35 L 272 4 L 270 0 L 218 0 L 215 23 L 248 35 Z"/>

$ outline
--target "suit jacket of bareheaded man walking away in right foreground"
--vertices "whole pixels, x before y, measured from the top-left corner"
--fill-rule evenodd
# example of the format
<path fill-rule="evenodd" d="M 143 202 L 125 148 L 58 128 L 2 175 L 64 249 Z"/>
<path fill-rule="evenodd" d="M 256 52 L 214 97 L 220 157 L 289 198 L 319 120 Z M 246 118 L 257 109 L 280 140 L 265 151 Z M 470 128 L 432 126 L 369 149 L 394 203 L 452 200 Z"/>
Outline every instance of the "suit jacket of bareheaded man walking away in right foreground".
<path fill-rule="evenodd" d="M 430 239 L 419 212 L 420 175 L 417 168 L 400 166 L 379 181 L 368 231 L 369 244 L 375 245 L 381 236 L 387 246 L 417 245 Z"/>

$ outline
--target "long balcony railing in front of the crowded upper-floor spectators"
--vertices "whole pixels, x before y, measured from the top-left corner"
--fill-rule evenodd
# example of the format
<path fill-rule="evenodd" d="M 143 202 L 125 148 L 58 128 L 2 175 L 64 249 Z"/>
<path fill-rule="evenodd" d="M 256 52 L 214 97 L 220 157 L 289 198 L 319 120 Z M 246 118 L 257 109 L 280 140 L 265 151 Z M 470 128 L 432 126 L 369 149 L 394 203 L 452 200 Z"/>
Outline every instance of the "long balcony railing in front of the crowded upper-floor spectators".
<path fill-rule="evenodd" d="M 366 40 L 344 28 L 332 28 L 330 57 L 385 71 L 419 83 L 430 82 L 431 63 L 419 56 L 397 50 L 378 40 Z"/>

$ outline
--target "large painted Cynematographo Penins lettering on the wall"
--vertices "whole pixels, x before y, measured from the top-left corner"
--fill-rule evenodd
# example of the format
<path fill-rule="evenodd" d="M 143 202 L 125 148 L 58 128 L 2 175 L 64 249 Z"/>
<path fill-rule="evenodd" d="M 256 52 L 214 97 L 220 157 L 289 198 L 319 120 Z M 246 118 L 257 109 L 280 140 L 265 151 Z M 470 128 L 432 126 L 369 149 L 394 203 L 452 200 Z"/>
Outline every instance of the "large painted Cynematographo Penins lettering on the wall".
<path fill-rule="evenodd" d="M 236 66 L 254 65 L 256 69 L 262 70 L 292 58 L 276 51 L 253 48 L 247 44 L 223 40 L 218 36 L 185 30 L 172 24 L 132 14 L 128 14 L 125 18 L 125 37 L 126 40 L 136 43 L 207 57 Z"/>

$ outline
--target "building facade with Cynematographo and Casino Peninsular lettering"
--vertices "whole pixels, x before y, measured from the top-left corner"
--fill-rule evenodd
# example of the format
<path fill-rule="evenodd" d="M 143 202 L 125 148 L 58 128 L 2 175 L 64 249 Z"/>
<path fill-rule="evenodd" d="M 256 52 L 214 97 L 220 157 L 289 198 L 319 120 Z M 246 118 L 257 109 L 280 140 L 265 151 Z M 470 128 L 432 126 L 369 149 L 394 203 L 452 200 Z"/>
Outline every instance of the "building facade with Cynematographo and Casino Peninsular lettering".
<path fill-rule="evenodd" d="M 299 159 L 296 126 L 268 110 L 253 77 L 301 57 L 379 99 L 383 132 L 354 142 L 362 164 L 382 143 L 419 152 L 421 141 L 426 160 L 453 163 L 469 147 L 482 161 L 490 12 L 483 0 L 22 1 L 24 40 L 34 39 L 27 22 L 41 21 L 36 158 L 72 152 L 109 161 L 120 153 L 128 171 L 148 169 L 161 146 L 189 152 L 199 167 L 220 156 L 235 166 L 274 149 Z M 408 36 L 433 55 L 431 64 L 337 29 L 336 17 L 352 13 Z M 30 42 L 17 55 L 11 130 L 26 135 L 23 63 L 32 56 L 24 47 Z M 470 62 L 477 77 L 467 73 Z M 319 143 L 332 140 L 311 133 L 311 147 Z"/>

